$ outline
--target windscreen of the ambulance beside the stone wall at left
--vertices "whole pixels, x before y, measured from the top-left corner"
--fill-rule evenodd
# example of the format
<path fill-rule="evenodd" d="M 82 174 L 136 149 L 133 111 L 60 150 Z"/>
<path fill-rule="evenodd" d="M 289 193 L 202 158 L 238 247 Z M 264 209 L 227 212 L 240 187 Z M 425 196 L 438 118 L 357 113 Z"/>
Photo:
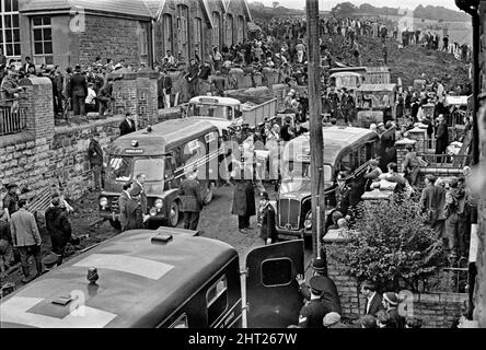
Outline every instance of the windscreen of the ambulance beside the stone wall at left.
<path fill-rule="evenodd" d="M 163 158 L 132 158 L 112 155 L 106 176 L 116 182 L 128 182 L 138 174 L 144 174 L 148 182 L 160 182 L 164 177 Z"/>

